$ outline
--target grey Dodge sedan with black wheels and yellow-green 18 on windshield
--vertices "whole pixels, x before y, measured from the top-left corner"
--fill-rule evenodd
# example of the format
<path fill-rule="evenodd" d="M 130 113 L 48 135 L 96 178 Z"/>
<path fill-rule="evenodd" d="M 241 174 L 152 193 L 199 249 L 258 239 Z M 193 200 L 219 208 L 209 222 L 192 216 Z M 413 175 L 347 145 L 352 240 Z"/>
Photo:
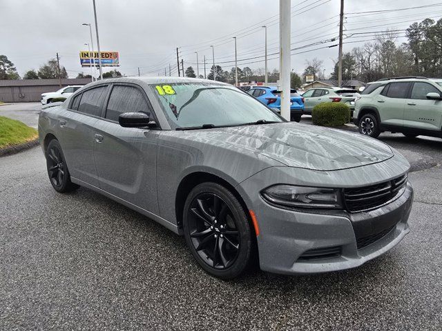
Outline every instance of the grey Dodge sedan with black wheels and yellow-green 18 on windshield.
<path fill-rule="evenodd" d="M 352 132 L 290 123 L 238 88 L 185 78 L 90 83 L 42 110 L 50 183 L 183 234 L 207 272 L 354 268 L 407 232 L 409 163 Z"/>

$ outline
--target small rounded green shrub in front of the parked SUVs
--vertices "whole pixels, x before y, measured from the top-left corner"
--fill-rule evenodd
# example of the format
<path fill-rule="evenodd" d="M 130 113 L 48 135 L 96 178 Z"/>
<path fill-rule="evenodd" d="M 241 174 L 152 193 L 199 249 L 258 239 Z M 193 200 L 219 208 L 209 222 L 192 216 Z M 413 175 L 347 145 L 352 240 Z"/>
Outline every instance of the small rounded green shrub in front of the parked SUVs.
<path fill-rule="evenodd" d="M 349 118 L 349 106 L 340 102 L 323 102 L 311 111 L 311 120 L 316 126 L 343 126 Z"/>

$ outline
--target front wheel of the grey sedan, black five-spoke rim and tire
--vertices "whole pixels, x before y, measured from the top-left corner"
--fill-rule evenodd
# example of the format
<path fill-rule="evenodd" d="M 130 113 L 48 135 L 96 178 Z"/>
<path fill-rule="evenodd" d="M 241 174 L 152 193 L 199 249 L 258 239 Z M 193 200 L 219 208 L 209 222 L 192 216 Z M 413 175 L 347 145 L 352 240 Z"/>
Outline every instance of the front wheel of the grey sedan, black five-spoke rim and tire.
<path fill-rule="evenodd" d="M 186 243 L 206 272 L 233 279 L 249 267 L 254 232 L 232 192 L 218 183 L 201 183 L 191 190 L 183 210 Z"/>

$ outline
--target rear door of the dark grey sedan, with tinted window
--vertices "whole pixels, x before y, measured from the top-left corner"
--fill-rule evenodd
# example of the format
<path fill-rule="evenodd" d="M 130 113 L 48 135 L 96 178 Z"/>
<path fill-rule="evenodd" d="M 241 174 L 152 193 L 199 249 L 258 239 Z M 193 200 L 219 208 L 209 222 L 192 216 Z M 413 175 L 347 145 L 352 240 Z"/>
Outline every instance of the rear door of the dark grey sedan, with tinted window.
<path fill-rule="evenodd" d="M 102 113 L 108 86 L 90 88 L 75 95 L 68 110 L 59 114 L 57 139 L 66 158 L 70 176 L 98 187 L 93 156 L 93 128 Z"/>

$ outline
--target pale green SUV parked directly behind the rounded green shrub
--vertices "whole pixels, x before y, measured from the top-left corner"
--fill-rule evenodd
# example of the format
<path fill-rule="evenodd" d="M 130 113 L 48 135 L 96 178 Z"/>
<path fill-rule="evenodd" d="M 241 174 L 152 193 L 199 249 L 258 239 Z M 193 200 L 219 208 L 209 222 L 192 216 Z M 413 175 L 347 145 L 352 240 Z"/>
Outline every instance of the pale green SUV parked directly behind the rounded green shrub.
<path fill-rule="evenodd" d="M 323 102 L 342 102 L 350 108 L 350 113 L 354 111 L 355 99 L 358 91 L 351 88 L 311 88 L 302 94 L 304 97 L 304 114 L 311 115 L 314 106 Z"/>

